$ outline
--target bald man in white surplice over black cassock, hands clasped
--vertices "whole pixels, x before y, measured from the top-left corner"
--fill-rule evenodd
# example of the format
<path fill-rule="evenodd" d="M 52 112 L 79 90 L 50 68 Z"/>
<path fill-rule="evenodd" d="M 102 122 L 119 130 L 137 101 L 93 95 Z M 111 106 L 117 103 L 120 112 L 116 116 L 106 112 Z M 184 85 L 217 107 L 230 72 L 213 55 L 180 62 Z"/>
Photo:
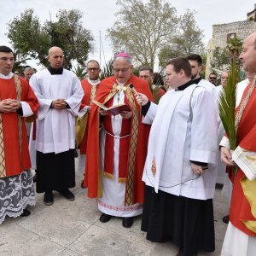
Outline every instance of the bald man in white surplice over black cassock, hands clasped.
<path fill-rule="evenodd" d="M 84 96 L 79 78 L 63 68 L 59 47 L 49 49 L 49 68 L 32 75 L 30 85 L 40 102 L 36 145 L 37 192 L 44 193 L 44 204 L 54 202 L 53 190 L 68 201 L 75 186 L 75 116 Z"/>

